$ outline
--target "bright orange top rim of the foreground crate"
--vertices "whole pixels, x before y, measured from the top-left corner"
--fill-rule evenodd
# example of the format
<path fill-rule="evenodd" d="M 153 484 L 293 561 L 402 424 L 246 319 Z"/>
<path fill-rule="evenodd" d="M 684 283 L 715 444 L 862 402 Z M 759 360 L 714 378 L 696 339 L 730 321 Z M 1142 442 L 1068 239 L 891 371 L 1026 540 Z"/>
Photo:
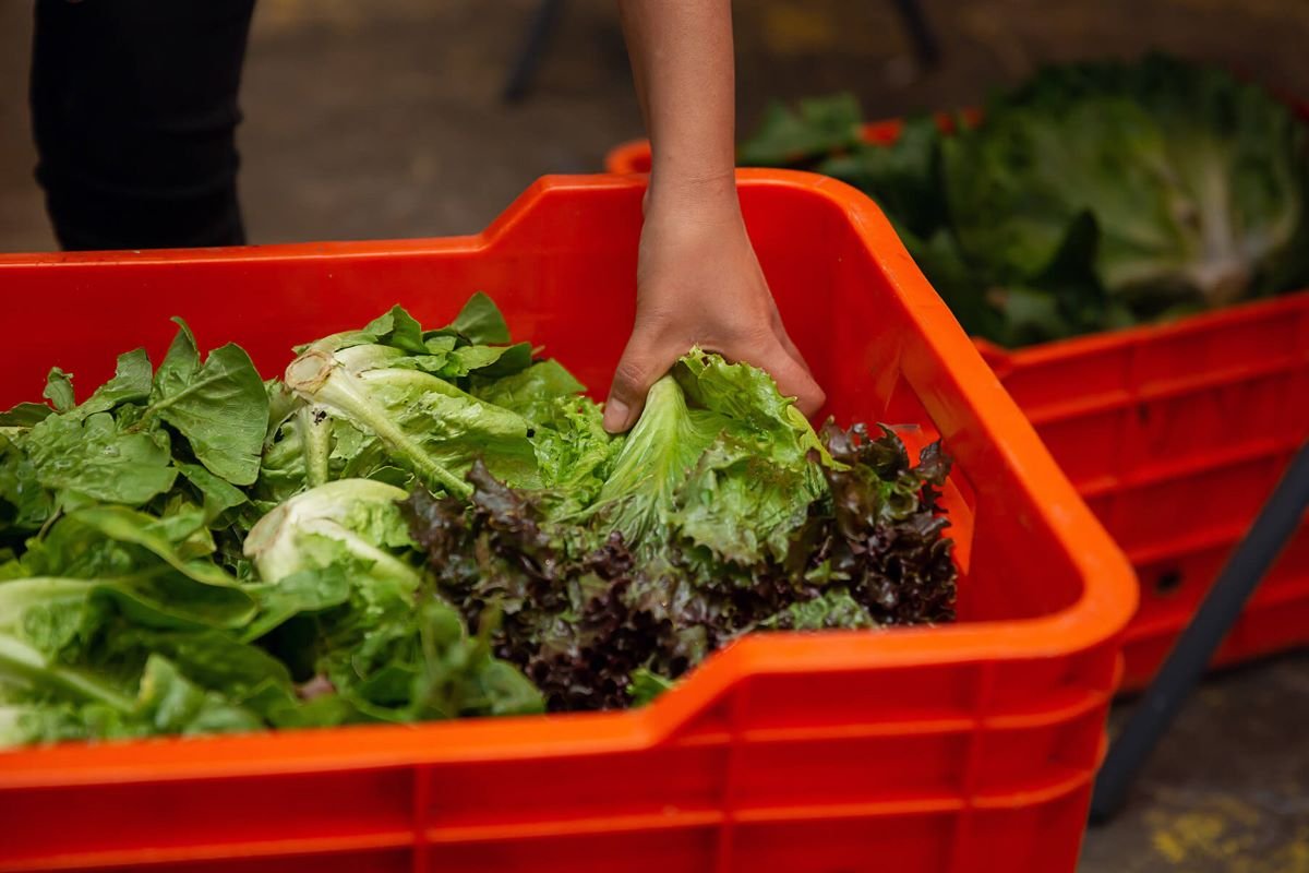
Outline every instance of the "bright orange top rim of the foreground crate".
<path fill-rule="evenodd" d="M 992 449 L 1018 474 L 1050 529 L 1066 543 L 1083 579 L 1076 602 L 1031 619 L 974 622 L 873 632 L 776 632 L 724 648 L 685 681 L 641 709 L 501 719 L 465 719 L 416 725 L 360 725 L 250 734 L 68 742 L 0 751 L 0 791 L 105 781 L 170 781 L 250 772 L 313 772 L 423 766 L 454 760 L 511 760 L 528 755 L 637 751 L 674 738 L 746 675 L 856 671 L 869 668 L 979 665 L 1059 658 L 1121 636 L 1136 610 L 1138 584 L 1126 556 L 1059 470 L 1017 404 L 984 365 L 977 347 L 914 264 L 881 209 L 835 179 L 796 170 L 742 169 L 742 188 L 789 187 L 838 207 L 860 232 L 861 245 L 891 287 L 907 297 L 906 312 L 942 357 L 977 361 L 953 376 Z M 7 270 L 179 262 L 258 262 L 313 258 L 374 258 L 386 254 L 487 250 L 542 200 L 560 192 L 631 191 L 644 175 L 547 175 L 524 191 L 476 234 L 357 242 L 306 242 L 228 249 L 37 253 L 0 255 Z M 999 438 L 999 435 L 1004 438 Z M 835 652 L 835 654 L 834 654 Z M 1106 690 L 1106 695 L 1111 690 Z"/>

